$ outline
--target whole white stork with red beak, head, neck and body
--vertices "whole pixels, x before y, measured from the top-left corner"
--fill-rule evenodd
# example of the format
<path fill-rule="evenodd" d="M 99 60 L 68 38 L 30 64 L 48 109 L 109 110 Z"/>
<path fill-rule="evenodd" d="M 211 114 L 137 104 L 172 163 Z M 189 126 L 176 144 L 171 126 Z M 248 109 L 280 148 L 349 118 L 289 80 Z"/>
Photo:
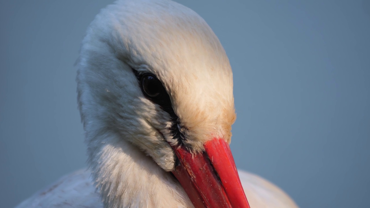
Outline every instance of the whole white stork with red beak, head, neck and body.
<path fill-rule="evenodd" d="M 231 66 L 191 9 L 118 0 L 88 27 L 77 65 L 90 168 L 17 208 L 297 207 L 272 183 L 236 170 Z"/>

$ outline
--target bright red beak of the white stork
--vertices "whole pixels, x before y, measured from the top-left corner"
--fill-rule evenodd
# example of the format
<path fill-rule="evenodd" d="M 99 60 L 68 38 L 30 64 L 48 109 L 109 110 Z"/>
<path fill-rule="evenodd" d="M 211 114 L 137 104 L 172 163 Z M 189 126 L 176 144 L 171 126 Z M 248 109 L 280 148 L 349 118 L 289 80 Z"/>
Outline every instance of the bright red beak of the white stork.
<path fill-rule="evenodd" d="M 205 151 L 192 154 L 172 147 L 180 164 L 172 173 L 196 208 L 249 208 L 229 145 L 214 138 Z"/>

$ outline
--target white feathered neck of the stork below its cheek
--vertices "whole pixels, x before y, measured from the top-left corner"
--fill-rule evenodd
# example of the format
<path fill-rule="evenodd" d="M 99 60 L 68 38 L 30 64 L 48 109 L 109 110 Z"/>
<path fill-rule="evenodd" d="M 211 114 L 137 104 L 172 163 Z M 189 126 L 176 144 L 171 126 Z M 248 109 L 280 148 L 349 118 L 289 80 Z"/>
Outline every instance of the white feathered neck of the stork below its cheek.
<path fill-rule="evenodd" d="M 116 134 L 100 137 L 88 153 L 105 208 L 193 207 L 179 182 L 151 157 Z"/>

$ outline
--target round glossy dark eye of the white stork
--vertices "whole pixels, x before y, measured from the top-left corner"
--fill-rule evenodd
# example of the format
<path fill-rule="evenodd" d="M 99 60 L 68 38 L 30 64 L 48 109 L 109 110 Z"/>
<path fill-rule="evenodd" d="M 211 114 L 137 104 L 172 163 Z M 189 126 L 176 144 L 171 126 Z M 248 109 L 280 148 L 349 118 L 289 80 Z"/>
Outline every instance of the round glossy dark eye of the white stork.
<path fill-rule="evenodd" d="M 161 81 L 154 74 L 146 73 L 141 77 L 141 88 L 144 94 L 149 98 L 159 98 L 166 93 Z"/>

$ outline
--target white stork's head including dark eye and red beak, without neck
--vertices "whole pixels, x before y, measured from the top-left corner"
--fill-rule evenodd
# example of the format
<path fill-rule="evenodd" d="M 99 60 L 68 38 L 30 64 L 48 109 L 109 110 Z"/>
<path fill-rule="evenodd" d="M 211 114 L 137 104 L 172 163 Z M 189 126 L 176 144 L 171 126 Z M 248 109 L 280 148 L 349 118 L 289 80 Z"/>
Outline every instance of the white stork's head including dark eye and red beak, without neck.
<path fill-rule="evenodd" d="M 228 146 L 231 67 L 194 11 L 167 0 L 101 10 L 82 43 L 77 83 L 93 171 L 119 158 L 105 148 L 129 141 L 172 171 L 195 206 L 248 204 Z"/>

